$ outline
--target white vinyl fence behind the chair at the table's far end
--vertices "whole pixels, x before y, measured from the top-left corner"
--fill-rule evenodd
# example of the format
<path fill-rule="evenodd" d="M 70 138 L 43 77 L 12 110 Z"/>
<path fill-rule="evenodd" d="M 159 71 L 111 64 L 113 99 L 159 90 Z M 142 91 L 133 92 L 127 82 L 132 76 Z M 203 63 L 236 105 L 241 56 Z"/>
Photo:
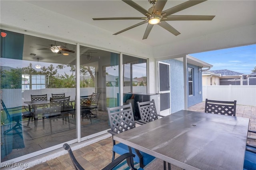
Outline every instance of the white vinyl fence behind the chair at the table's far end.
<path fill-rule="evenodd" d="M 234 101 L 237 105 L 256 106 L 256 85 L 203 86 L 203 101 Z"/>

